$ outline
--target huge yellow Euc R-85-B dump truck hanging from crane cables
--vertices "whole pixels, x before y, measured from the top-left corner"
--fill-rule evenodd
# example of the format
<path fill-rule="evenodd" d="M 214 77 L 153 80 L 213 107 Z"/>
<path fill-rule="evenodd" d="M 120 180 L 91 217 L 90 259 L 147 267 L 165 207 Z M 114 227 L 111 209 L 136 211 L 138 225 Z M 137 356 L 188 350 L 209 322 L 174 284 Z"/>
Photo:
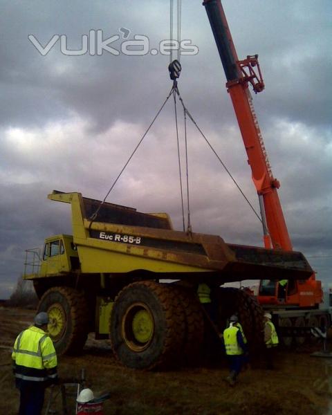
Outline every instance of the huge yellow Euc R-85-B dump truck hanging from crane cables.
<path fill-rule="evenodd" d="M 110 339 L 128 367 L 196 362 L 211 320 L 196 292 L 203 283 L 210 288 L 216 328 L 222 331 L 236 312 L 248 342 L 257 343 L 259 304 L 245 291 L 221 285 L 313 273 L 300 252 L 176 231 L 165 213 L 137 212 L 77 192 L 53 191 L 48 199 L 71 204 L 73 235 L 48 237 L 40 253 L 27 250 L 24 278 L 33 280 L 60 354 L 81 351 L 95 332 L 97 339 Z"/>

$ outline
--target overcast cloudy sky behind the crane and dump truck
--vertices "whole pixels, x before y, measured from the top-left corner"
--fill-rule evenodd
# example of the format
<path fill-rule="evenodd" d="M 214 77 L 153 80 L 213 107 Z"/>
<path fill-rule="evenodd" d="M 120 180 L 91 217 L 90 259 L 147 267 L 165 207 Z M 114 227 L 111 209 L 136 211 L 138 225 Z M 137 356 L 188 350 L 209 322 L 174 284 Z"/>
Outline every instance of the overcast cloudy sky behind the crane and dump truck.
<path fill-rule="evenodd" d="M 181 56 L 181 95 L 258 210 L 208 17 L 201 0 L 182 3 L 182 39 L 199 52 Z M 266 90 L 255 95 L 255 110 L 294 249 L 319 279 L 332 282 L 332 3 L 224 0 L 223 7 L 240 59 L 259 53 Z M 90 49 L 73 56 L 55 36 L 66 35 L 67 49 L 79 50 L 82 35 L 102 30 L 103 39 L 120 36 L 110 44 L 120 50 L 144 35 L 149 50 L 158 49 L 169 38 L 169 1 L 1 1 L 0 27 L 0 298 L 6 298 L 24 270 L 24 250 L 71 232 L 69 206 L 47 194 L 104 199 L 172 86 L 169 56 Z M 41 48 L 54 46 L 42 55 L 29 35 Z M 182 123 L 180 132 L 183 154 Z M 255 214 L 192 126 L 188 151 L 194 232 L 261 245 Z M 181 229 L 172 100 L 107 200 L 168 212 Z"/>

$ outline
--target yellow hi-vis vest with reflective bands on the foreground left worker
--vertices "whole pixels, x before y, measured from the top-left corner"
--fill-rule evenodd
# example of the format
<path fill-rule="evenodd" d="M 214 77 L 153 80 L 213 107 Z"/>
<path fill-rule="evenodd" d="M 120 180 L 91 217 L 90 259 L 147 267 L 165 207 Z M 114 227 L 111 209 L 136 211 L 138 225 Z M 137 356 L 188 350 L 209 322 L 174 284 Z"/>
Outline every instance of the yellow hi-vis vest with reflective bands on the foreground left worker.
<path fill-rule="evenodd" d="M 39 327 L 31 326 L 19 333 L 12 359 L 17 379 L 44 382 L 57 378 L 57 354 L 53 342 Z"/>

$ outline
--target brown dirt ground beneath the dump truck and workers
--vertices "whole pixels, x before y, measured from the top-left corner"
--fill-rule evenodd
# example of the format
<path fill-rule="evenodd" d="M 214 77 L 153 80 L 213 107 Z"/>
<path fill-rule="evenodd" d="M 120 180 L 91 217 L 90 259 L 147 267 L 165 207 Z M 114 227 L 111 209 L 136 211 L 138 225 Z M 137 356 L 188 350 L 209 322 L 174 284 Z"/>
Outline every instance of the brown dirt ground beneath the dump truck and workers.
<path fill-rule="evenodd" d="M 17 414 L 19 394 L 11 370 L 11 347 L 16 335 L 33 321 L 34 311 L 0 307 L 0 414 Z M 279 351 L 274 371 L 267 371 L 259 360 L 241 373 L 232 388 L 225 383 L 228 369 L 199 367 L 178 371 L 147 372 L 122 367 L 112 356 L 107 341 L 89 337 L 84 353 L 59 358 L 61 378 L 86 381 L 104 402 L 104 414 L 332 414 L 332 359 L 311 357 L 314 347 Z M 75 414 L 75 386 L 67 386 L 68 414 Z M 59 387 L 53 390 L 53 414 L 62 414 Z M 50 390 L 46 392 L 45 407 Z M 72 396 L 70 396 L 72 394 Z M 329 409 L 330 408 L 330 409 Z"/>

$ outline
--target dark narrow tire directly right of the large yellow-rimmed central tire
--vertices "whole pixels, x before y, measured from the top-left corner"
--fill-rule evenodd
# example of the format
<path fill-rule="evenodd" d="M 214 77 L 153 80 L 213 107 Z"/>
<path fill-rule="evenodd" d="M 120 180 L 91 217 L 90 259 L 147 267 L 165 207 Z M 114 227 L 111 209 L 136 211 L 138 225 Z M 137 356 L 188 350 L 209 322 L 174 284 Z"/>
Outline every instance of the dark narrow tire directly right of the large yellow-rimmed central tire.
<path fill-rule="evenodd" d="M 202 357 L 204 340 L 202 307 L 196 293 L 190 289 L 177 286 L 175 290 L 185 315 L 184 362 L 187 366 L 198 365 Z"/>

